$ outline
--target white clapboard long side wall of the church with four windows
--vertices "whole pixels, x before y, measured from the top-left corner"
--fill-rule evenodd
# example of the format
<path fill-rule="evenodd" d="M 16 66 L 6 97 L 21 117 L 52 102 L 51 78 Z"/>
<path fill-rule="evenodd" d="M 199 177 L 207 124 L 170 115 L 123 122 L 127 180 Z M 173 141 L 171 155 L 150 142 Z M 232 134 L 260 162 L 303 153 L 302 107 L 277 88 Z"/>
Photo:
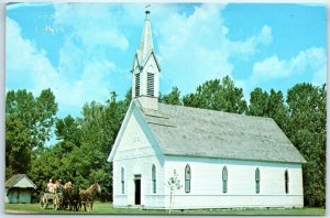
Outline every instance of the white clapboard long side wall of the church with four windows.
<path fill-rule="evenodd" d="M 190 193 L 185 193 L 185 167 L 191 171 Z M 175 170 L 183 188 L 175 193 L 176 208 L 302 207 L 301 164 L 222 159 L 166 156 L 165 181 Z M 222 168 L 228 170 L 228 192 L 222 193 Z M 260 193 L 255 193 L 255 170 L 260 168 Z M 284 172 L 289 173 L 285 193 Z M 169 189 L 166 189 L 169 205 Z"/>

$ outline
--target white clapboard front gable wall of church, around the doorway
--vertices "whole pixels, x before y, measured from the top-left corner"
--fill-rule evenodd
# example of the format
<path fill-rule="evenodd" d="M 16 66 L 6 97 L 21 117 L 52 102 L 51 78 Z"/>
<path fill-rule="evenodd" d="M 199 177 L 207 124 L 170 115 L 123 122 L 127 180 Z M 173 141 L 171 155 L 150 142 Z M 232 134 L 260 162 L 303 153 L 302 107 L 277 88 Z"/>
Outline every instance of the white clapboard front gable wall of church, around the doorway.
<path fill-rule="evenodd" d="M 113 206 L 134 205 L 134 175 L 141 175 L 141 205 L 164 207 L 164 167 L 160 163 L 136 113 L 130 117 L 113 161 Z M 139 116 L 139 115 L 138 115 Z M 152 166 L 156 166 L 156 193 L 152 192 Z M 124 168 L 124 194 L 121 189 L 121 168 Z M 155 200 L 156 198 L 156 200 Z"/>

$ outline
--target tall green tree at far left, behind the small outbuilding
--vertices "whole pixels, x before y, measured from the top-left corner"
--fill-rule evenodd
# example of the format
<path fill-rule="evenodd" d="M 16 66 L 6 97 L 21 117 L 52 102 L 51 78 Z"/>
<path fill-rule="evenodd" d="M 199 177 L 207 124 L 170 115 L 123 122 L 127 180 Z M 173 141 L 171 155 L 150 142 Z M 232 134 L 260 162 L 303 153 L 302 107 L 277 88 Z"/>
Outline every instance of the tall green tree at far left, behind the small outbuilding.
<path fill-rule="evenodd" d="M 36 98 L 32 92 L 10 90 L 6 99 L 7 176 L 28 173 L 36 151 L 51 138 L 57 105 L 51 89 Z"/>

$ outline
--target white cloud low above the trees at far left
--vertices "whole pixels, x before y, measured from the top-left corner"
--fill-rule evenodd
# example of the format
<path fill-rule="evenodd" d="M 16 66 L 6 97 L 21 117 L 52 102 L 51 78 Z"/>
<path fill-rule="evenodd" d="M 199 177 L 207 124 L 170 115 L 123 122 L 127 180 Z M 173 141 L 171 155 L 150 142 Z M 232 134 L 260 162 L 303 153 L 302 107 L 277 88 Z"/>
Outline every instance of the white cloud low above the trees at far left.
<path fill-rule="evenodd" d="M 7 18 L 7 86 L 26 88 L 34 95 L 51 88 L 59 106 L 59 116 L 78 116 L 86 101 L 102 102 L 109 95 L 109 75 L 116 70 L 112 62 L 88 58 L 80 63 L 84 51 L 66 42 L 59 53 L 59 67 L 55 68 L 44 51 L 22 37 L 20 26 L 10 18 Z M 68 75 L 77 70 L 81 73 Z"/>

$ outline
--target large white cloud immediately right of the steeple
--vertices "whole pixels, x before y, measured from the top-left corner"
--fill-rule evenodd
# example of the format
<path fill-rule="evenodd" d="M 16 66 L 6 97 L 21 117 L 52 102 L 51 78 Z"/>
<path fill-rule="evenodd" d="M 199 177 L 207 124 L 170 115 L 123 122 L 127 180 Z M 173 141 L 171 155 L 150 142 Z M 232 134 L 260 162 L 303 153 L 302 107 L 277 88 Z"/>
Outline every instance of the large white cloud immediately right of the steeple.
<path fill-rule="evenodd" d="M 229 40 L 230 30 L 221 18 L 224 7 L 202 4 L 195 7 L 190 15 L 174 8 L 166 19 L 156 20 L 163 81 L 180 87 L 184 94 L 193 91 L 207 79 L 232 76 L 232 55 L 252 55 L 257 46 L 272 42 L 268 25 L 244 41 Z"/>

